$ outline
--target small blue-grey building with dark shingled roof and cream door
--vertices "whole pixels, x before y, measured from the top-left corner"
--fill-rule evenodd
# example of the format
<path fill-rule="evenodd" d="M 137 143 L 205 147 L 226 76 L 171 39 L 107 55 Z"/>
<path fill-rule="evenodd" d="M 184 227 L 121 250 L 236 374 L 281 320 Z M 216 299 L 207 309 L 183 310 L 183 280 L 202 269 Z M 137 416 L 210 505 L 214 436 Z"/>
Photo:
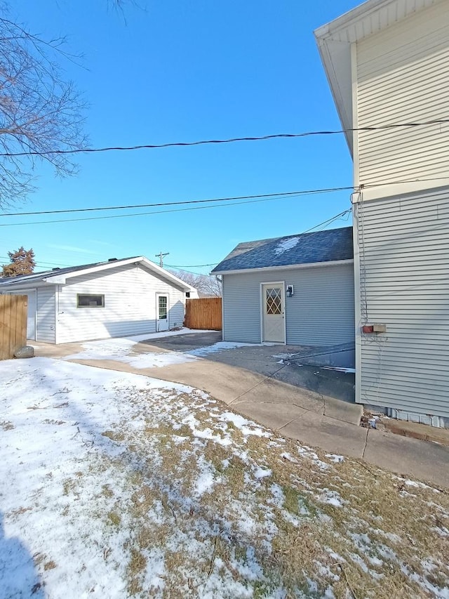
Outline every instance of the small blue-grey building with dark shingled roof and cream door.
<path fill-rule="evenodd" d="M 330 346 L 354 343 L 352 228 L 244 242 L 222 276 L 223 340 Z"/>

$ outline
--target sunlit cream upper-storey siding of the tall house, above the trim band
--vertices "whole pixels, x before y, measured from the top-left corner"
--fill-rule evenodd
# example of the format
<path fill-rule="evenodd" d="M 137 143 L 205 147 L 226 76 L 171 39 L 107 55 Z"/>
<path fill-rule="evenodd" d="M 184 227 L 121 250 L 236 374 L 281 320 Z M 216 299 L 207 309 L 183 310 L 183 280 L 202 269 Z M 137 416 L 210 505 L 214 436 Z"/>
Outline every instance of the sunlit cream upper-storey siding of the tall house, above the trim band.
<path fill-rule="evenodd" d="M 358 126 L 447 119 L 448 39 L 448 4 L 441 2 L 358 41 Z M 449 124 L 362 131 L 355 156 L 358 182 L 385 185 L 448 176 L 448 146 Z"/>

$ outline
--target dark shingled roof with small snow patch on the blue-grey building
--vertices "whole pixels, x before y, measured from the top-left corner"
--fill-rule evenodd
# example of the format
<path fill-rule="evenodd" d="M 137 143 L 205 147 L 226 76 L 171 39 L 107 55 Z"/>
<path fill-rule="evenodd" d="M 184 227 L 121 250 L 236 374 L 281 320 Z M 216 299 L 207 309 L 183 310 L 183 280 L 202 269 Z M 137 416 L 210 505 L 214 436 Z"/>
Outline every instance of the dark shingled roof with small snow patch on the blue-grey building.
<path fill-rule="evenodd" d="M 352 260 L 352 227 L 239 244 L 212 272 Z"/>

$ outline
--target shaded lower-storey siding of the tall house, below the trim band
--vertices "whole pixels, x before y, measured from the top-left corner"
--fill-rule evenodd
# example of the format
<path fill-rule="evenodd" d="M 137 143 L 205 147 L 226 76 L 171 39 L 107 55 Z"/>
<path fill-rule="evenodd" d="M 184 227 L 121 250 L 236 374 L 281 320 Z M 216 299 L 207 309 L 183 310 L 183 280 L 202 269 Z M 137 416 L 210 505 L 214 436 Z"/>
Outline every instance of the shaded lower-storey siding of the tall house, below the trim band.
<path fill-rule="evenodd" d="M 358 402 L 449 416 L 449 190 L 357 204 L 361 323 Z M 359 329 L 358 329 L 359 330 Z"/>

